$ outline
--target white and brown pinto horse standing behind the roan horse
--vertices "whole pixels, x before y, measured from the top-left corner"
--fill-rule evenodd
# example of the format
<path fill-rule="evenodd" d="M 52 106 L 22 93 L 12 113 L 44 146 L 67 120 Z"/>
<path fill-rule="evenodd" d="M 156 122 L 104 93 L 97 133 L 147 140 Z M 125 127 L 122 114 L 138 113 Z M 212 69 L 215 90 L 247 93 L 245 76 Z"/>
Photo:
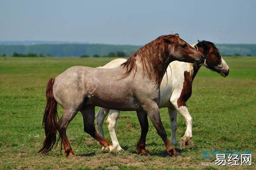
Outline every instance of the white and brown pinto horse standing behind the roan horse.
<path fill-rule="evenodd" d="M 186 107 L 186 101 L 192 94 L 192 81 L 195 78 L 199 68 L 201 65 L 204 65 L 207 68 L 220 73 L 223 77 L 226 77 L 229 73 L 229 67 L 227 63 L 221 57 L 218 49 L 212 42 L 198 40 L 198 43 L 192 46 L 204 54 L 206 57 L 205 62 L 203 64 L 179 61 L 171 62 L 169 64 L 170 67 L 167 68 L 166 75 L 164 75 L 160 85 L 161 97 L 158 106 L 159 108 L 168 108 L 170 127 L 172 130 L 172 144 L 177 144 L 177 111 L 186 120 L 186 132 L 180 139 L 180 148 L 184 148 L 185 145 L 192 144 L 192 117 L 190 116 L 188 108 Z M 126 59 L 114 59 L 105 66 L 99 68 L 114 68 L 121 65 L 125 61 Z M 113 146 L 116 147 L 117 150 L 122 150 L 117 140 L 115 131 L 116 122 L 120 111 L 110 111 L 109 109 L 100 108 L 95 116 L 97 130 L 100 135 L 104 136 L 102 124 L 108 113 L 109 116 L 107 119 L 107 125 Z"/>

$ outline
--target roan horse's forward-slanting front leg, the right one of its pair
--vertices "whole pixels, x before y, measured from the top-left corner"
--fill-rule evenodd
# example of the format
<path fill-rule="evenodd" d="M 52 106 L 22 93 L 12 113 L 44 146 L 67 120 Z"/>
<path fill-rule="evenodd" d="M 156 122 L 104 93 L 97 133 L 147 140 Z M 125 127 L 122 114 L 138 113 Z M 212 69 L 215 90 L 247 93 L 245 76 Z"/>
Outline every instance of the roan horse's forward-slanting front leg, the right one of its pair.
<path fill-rule="evenodd" d="M 163 139 L 169 156 L 178 156 L 180 153 L 175 150 L 175 148 L 172 146 L 167 138 L 166 131 L 160 119 L 160 113 L 157 103 L 148 103 L 147 107 L 143 107 L 143 109 L 148 114 L 148 117 L 156 128 L 158 135 Z"/>

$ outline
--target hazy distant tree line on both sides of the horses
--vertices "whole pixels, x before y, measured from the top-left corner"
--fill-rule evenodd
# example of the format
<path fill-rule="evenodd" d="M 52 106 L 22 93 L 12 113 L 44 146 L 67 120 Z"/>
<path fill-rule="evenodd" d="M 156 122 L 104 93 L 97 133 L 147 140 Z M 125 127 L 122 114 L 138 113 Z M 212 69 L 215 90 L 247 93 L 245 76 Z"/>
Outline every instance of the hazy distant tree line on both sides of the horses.
<path fill-rule="evenodd" d="M 240 54 L 241 56 L 256 56 L 256 44 L 216 44 L 222 55 Z M 107 44 L 41 44 L 41 45 L 0 45 L 0 54 L 12 56 L 18 54 L 34 53 L 52 54 L 53 57 L 125 57 L 131 56 L 141 46 L 139 45 L 107 45 Z M 115 52 L 116 51 L 116 52 Z M 121 53 L 122 54 L 121 54 Z M 22 56 L 22 55 L 21 55 Z M 46 55 L 48 56 L 48 55 Z"/>

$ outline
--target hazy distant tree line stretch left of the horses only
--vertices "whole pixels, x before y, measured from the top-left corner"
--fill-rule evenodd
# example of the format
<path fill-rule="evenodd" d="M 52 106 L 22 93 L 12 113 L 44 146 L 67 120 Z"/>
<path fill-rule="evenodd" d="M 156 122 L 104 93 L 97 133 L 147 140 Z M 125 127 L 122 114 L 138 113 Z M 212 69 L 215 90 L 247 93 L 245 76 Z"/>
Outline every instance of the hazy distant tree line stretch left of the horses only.
<path fill-rule="evenodd" d="M 0 45 L 0 54 L 12 56 L 16 53 L 52 54 L 53 57 L 80 57 L 94 54 L 108 56 L 111 51 L 122 51 L 125 57 L 131 56 L 141 46 L 137 45 L 107 45 L 107 44 L 42 44 L 42 45 Z"/>

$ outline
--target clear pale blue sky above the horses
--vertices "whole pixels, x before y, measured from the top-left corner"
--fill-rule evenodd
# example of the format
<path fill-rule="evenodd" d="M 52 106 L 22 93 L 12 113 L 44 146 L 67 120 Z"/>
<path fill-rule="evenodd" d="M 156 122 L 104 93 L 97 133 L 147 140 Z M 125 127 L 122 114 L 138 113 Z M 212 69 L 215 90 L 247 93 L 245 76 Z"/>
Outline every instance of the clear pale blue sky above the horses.
<path fill-rule="evenodd" d="M 0 0 L 0 40 L 256 43 L 256 0 Z"/>

